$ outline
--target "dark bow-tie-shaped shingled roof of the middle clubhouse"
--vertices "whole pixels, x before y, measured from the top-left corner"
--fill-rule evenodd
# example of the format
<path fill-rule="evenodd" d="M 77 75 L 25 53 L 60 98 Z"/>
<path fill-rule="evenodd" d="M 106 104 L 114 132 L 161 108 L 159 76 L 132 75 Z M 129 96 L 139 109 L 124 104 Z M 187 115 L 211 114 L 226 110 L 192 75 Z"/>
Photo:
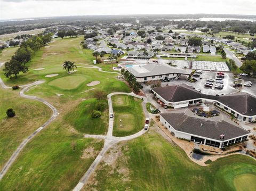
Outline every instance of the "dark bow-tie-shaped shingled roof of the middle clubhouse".
<path fill-rule="evenodd" d="M 158 95 L 163 97 L 168 102 L 182 102 L 189 99 L 212 99 L 227 105 L 232 110 L 243 115 L 256 115 L 256 97 L 247 93 L 235 93 L 223 96 L 206 95 L 197 92 L 187 86 L 165 86 L 156 87 L 153 89 Z"/>

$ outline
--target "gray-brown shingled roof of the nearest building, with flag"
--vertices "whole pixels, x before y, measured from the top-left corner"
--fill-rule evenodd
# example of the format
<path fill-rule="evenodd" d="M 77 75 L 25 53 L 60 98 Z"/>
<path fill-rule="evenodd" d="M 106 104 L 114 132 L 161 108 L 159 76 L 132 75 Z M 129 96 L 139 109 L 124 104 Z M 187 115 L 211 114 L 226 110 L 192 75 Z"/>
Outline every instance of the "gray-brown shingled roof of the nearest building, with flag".
<path fill-rule="evenodd" d="M 215 122 L 198 119 L 189 117 L 185 113 L 161 113 L 160 115 L 175 130 L 215 140 L 223 140 L 220 139 L 220 135 L 222 134 L 225 134 L 224 140 L 250 134 L 250 132 L 226 121 Z"/>

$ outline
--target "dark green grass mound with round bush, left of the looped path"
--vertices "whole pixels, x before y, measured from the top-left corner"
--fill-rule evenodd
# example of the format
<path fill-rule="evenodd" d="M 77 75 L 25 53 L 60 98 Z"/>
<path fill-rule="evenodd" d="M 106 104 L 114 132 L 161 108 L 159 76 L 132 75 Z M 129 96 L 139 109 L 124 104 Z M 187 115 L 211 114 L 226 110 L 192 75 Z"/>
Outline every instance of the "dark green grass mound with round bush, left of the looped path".
<path fill-rule="evenodd" d="M 81 102 L 74 110 L 69 112 L 65 119 L 75 129 L 86 134 L 106 134 L 108 129 L 108 104 L 104 101 L 106 108 L 102 111 L 102 115 L 98 119 L 91 117 L 92 111 L 97 110 L 97 99 L 87 99 Z"/>

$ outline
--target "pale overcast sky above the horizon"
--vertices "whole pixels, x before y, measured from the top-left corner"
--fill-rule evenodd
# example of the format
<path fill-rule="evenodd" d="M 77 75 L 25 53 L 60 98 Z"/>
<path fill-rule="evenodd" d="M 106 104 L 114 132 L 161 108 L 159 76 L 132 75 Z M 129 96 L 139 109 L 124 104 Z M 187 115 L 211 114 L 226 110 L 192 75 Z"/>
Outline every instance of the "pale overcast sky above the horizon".
<path fill-rule="evenodd" d="M 0 0 L 0 19 L 68 15 L 218 13 L 256 15 L 256 0 Z"/>

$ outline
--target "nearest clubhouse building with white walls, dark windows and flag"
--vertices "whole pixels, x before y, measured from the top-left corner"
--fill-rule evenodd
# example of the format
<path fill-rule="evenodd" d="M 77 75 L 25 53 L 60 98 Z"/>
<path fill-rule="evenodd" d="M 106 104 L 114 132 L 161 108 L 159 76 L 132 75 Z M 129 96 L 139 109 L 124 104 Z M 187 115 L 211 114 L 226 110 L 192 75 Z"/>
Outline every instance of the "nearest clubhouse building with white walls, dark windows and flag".
<path fill-rule="evenodd" d="M 190 110 L 161 113 L 160 121 L 177 138 L 217 148 L 244 142 L 250 135 L 249 131 L 226 121 L 206 120 L 193 115 Z"/>

